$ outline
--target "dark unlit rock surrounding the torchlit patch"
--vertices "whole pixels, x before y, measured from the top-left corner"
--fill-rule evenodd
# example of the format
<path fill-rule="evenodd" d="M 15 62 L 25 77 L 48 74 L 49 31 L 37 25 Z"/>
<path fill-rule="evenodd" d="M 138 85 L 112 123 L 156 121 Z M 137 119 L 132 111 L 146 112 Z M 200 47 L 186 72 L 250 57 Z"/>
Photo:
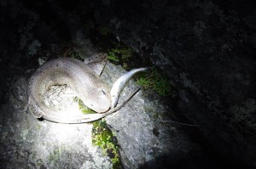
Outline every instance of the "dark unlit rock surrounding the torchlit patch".
<path fill-rule="evenodd" d="M 63 42 L 65 49 L 106 50 L 108 39 L 98 35 L 106 27 L 109 42 L 119 37 L 138 60 L 156 65 L 172 81 L 177 116 L 204 126 L 183 130 L 207 158 L 222 168 L 255 168 L 255 7 L 255 1 L 234 0 L 2 0 L 1 106 L 12 76 L 36 68 L 44 51 L 52 51 L 49 58 L 63 54 Z M 90 41 L 74 41 L 83 37 Z M 189 168 L 185 162 L 181 167 Z"/>

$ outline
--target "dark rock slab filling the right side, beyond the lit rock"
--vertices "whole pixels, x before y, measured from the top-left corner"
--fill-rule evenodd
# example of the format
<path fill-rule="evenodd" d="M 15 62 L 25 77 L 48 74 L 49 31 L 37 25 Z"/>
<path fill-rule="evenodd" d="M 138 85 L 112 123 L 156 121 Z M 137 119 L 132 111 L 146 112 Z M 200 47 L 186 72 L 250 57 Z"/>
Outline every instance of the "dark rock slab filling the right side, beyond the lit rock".
<path fill-rule="evenodd" d="M 220 163 L 255 167 L 252 1 L 89 3 L 99 24 L 172 79 L 179 113 L 206 127 Z"/>

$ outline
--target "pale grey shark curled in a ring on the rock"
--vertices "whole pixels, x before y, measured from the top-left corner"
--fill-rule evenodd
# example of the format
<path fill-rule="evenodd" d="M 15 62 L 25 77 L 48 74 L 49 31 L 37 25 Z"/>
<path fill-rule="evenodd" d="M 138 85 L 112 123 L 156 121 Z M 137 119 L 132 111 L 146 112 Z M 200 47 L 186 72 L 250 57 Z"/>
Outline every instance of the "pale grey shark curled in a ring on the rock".
<path fill-rule="evenodd" d="M 61 123 L 96 121 L 119 110 L 138 91 L 132 93 L 123 104 L 114 108 L 125 84 L 137 72 L 146 69 L 138 68 L 120 76 L 119 80 L 113 85 L 112 94 L 115 97 L 112 100 L 109 95 L 108 85 L 102 82 L 98 77 L 106 64 L 106 61 L 106 54 L 98 54 L 89 59 L 85 59 L 84 62 L 78 59 L 69 58 L 53 59 L 46 62 L 32 75 L 28 84 L 27 94 L 29 97 L 29 110 L 37 118 L 43 117 L 45 120 Z M 67 115 L 61 110 L 52 110 L 49 106 L 44 104 L 43 95 L 49 90 L 49 87 L 52 87 L 53 85 L 67 85 L 91 110 L 95 110 L 97 113 L 105 113 L 92 115 Z M 111 102 L 114 103 L 114 106 L 109 110 Z"/>

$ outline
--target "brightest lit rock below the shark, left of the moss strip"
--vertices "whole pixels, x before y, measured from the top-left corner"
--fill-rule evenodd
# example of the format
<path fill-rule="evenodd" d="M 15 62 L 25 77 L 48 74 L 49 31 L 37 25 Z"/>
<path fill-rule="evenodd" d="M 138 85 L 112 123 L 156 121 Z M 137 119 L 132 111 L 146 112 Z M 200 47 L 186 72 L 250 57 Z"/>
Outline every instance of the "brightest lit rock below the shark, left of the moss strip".
<path fill-rule="evenodd" d="M 13 87 L 1 116 L 4 168 L 111 168 L 108 156 L 92 146 L 91 124 L 38 121 L 24 110 L 27 78 L 18 78 Z"/>

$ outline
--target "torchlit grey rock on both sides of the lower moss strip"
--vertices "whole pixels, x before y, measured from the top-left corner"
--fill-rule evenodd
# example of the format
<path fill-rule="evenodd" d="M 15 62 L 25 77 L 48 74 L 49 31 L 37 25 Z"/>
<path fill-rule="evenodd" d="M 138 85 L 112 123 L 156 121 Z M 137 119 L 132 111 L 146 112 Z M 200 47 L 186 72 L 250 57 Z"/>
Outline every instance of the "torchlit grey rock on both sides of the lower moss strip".
<path fill-rule="evenodd" d="M 102 79 L 109 84 L 113 83 L 123 71 L 123 68 L 108 63 Z M 91 143 L 92 124 L 69 125 L 38 121 L 24 111 L 27 78 L 15 77 L 15 90 L 9 93 L 9 104 L 5 105 L 4 110 L 6 115 L 1 116 L 3 137 L 0 154 L 3 159 L 9 158 L 12 161 L 5 161 L 3 167 L 18 167 L 16 164 L 19 163 L 20 167 L 112 168 L 108 155 L 103 155 L 102 150 Z M 124 101 L 125 96 L 136 87 L 135 82 L 128 82 L 120 101 Z M 184 136 L 177 137 L 176 127 L 151 119 L 156 113 L 163 115 L 166 106 L 160 104 L 159 97 L 148 95 L 146 91 L 143 93 L 138 93 L 118 114 L 106 119 L 121 146 L 120 156 L 124 167 L 137 168 L 149 162 L 155 166 L 154 155 L 192 147 L 186 141 L 180 144 Z M 67 101 L 70 102 L 70 99 Z"/>

